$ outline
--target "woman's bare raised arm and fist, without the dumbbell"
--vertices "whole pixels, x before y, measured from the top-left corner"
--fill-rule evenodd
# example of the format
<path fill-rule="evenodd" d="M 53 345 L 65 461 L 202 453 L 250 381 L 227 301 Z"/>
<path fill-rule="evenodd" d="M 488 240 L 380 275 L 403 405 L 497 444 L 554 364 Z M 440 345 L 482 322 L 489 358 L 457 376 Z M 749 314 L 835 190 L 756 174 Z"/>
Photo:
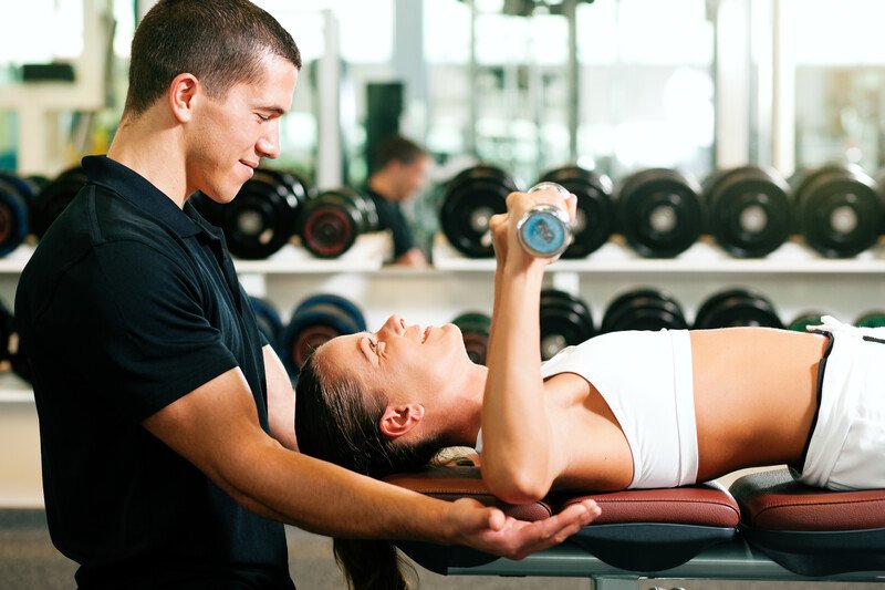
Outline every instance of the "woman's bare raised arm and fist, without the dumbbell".
<path fill-rule="evenodd" d="M 516 229 L 539 203 L 566 208 L 574 218 L 574 197 L 566 201 L 549 189 L 511 194 L 508 214 L 491 219 L 497 269 L 482 403 L 482 475 L 493 494 L 513 504 L 545 496 L 560 467 L 550 445 L 538 322 L 544 269 L 555 259 L 523 251 Z"/>

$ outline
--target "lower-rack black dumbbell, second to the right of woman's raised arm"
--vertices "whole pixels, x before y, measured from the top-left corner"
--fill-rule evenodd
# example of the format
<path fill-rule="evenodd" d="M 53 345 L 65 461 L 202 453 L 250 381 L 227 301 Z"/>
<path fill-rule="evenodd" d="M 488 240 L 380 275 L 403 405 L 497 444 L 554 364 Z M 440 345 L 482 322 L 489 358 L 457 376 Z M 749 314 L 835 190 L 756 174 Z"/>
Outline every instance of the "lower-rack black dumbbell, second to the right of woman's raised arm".
<path fill-rule="evenodd" d="M 602 319 L 602 332 L 622 330 L 685 330 L 688 322 L 679 303 L 657 289 L 634 289 L 612 301 Z"/>

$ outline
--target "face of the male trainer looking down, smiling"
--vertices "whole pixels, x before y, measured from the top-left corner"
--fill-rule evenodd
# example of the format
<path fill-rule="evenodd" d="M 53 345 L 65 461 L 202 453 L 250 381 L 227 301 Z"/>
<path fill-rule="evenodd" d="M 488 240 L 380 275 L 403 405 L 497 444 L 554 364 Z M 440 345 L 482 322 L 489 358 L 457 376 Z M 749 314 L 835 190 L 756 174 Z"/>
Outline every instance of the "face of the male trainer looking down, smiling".
<path fill-rule="evenodd" d="M 189 130 L 188 194 L 202 190 L 229 203 L 262 158 L 280 155 L 280 117 L 292 106 L 294 64 L 277 55 L 261 62 L 263 75 L 217 99 L 202 92 Z"/>

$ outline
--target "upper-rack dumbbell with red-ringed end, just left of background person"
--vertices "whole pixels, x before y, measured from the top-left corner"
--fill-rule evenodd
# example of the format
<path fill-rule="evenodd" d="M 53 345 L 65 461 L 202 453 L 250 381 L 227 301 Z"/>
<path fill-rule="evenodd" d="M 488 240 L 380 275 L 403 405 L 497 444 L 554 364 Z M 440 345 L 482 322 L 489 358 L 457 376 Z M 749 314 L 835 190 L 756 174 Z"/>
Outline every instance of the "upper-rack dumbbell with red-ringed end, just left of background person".
<path fill-rule="evenodd" d="M 375 203 L 353 188 L 342 186 L 309 199 L 299 224 L 301 245 L 319 258 L 337 258 L 361 234 L 377 231 Z"/>

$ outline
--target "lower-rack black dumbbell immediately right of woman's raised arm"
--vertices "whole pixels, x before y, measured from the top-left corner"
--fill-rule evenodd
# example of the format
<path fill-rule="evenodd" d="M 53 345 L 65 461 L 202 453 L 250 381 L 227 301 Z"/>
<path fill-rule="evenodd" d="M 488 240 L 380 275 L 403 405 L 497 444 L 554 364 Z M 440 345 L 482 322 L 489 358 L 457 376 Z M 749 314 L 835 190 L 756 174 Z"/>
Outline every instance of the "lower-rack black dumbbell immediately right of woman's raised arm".
<path fill-rule="evenodd" d="M 541 291 L 541 360 L 552 359 L 565 346 L 595 335 L 593 315 L 580 298 L 558 289 Z"/>

